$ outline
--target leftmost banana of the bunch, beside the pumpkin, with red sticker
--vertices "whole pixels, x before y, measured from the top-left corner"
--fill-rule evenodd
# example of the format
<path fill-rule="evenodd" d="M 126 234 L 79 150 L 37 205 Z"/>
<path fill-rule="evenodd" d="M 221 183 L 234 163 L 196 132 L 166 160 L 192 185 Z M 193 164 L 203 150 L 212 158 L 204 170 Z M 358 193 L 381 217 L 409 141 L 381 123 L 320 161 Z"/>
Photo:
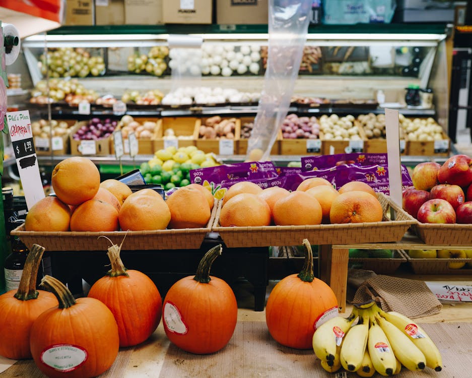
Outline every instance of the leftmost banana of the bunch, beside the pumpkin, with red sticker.
<path fill-rule="evenodd" d="M 357 310 L 353 309 L 348 318 L 331 318 L 319 326 L 313 334 L 313 351 L 316 357 L 331 364 L 336 356 L 339 359 L 339 347 L 356 318 Z"/>

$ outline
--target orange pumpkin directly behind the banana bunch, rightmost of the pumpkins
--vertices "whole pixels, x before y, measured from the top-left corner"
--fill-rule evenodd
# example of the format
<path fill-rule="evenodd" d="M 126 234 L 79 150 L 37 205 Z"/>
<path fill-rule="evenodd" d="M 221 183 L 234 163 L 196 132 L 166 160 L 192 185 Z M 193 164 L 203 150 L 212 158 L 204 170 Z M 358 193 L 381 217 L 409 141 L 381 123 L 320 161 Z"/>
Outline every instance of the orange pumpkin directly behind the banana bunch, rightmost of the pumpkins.
<path fill-rule="evenodd" d="M 267 299 L 265 321 L 280 344 L 310 349 L 317 322 L 338 316 L 338 300 L 328 285 L 314 277 L 311 245 L 307 239 L 303 239 L 303 244 L 303 270 L 285 277 L 274 287 Z"/>

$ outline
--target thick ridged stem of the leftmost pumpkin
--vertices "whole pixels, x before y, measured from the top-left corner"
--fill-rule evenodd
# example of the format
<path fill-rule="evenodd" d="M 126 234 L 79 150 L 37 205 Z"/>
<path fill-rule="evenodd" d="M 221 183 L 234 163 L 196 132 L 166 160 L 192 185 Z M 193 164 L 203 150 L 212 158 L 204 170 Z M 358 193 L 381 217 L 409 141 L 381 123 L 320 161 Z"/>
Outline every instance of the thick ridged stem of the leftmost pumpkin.
<path fill-rule="evenodd" d="M 36 299 L 38 291 L 36 290 L 36 277 L 38 275 L 39 264 L 43 256 L 44 247 L 38 244 L 33 244 L 33 247 L 28 253 L 25 261 L 25 267 L 20 279 L 18 291 L 15 293 L 15 298 L 19 300 Z"/>

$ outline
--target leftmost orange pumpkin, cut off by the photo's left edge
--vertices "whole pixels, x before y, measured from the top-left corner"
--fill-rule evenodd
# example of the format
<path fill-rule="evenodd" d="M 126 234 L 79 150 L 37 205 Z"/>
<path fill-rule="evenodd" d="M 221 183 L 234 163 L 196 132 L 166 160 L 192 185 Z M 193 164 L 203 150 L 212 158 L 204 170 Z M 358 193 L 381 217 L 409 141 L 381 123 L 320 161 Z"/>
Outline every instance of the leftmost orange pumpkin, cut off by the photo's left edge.
<path fill-rule="evenodd" d="M 31 358 L 30 332 L 36 318 L 57 306 L 55 296 L 36 290 L 36 276 L 44 248 L 33 244 L 25 262 L 18 291 L 0 295 L 0 355 L 12 359 Z"/>

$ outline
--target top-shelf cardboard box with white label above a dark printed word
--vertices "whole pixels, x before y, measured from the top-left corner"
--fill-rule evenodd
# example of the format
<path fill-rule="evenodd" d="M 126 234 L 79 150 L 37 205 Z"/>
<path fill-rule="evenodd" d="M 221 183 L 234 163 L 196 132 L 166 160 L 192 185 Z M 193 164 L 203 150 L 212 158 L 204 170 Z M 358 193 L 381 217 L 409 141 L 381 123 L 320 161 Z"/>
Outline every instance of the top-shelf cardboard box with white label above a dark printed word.
<path fill-rule="evenodd" d="M 211 24 L 212 0 L 164 1 L 162 13 L 165 24 Z"/>

